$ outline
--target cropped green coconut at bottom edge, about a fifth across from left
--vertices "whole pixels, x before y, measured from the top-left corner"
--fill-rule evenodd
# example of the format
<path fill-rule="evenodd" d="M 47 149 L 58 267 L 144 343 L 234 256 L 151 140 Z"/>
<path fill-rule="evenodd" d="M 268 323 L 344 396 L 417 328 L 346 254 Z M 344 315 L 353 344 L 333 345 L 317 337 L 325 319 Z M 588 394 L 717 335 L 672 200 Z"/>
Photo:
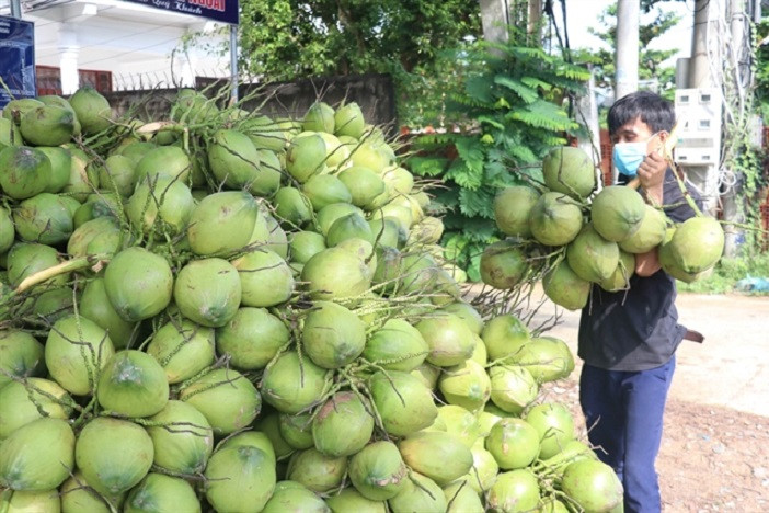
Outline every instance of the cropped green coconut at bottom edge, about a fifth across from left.
<path fill-rule="evenodd" d="M 125 513 L 156 511 L 200 512 L 200 501 L 193 487 L 184 479 L 163 474 L 148 474 L 126 498 Z"/>

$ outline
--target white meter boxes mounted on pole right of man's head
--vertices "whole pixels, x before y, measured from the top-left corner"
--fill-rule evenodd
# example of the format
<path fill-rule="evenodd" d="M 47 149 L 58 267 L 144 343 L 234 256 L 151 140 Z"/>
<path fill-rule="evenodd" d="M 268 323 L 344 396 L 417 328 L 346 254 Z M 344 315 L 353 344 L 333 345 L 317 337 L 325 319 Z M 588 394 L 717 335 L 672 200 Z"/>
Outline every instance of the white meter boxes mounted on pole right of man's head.
<path fill-rule="evenodd" d="M 678 145 L 674 152 L 681 166 L 718 166 L 721 158 L 721 91 L 713 88 L 676 91 Z"/>

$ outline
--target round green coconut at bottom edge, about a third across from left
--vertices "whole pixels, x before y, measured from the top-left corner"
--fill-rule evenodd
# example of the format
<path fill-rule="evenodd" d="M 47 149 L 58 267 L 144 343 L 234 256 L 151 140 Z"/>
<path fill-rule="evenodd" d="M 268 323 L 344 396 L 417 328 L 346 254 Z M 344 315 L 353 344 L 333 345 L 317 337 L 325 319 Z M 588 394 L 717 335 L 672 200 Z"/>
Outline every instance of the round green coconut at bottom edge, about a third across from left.
<path fill-rule="evenodd" d="M 228 447 L 214 453 L 206 467 L 206 499 L 216 511 L 259 513 L 275 489 L 275 463 L 264 451 Z"/>

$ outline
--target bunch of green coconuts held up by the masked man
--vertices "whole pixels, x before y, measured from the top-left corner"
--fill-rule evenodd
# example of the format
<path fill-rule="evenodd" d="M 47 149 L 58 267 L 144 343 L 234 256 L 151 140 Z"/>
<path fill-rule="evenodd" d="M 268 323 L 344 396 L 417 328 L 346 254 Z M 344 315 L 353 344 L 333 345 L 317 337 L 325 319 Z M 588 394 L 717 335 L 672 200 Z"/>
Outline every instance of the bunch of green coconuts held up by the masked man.
<path fill-rule="evenodd" d="M 656 250 L 663 270 L 687 283 L 721 258 L 718 220 L 698 215 L 674 224 L 663 205 L 645 203 L 634 187 L 598 190 L 595 166 L 579 148 L 552 149 L 542 175 L 543 184 L 507 187 L 495 198 L 496 225 L 509 238 L 491 244 L 481 259 L 483 281 L 493 287 L 543 274 L 548 297 L 575 310 L 587 304 L 592 284 L 628 289 L 636 254 Z"/>

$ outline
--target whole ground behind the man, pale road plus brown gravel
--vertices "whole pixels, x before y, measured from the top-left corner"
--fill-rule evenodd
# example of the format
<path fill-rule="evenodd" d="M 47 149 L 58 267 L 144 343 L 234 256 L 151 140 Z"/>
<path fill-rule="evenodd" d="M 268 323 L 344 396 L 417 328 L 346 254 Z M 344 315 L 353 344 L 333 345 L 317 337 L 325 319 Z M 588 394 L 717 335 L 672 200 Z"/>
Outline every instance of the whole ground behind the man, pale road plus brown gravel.
<path fill-rule="evenodd" d="M 769 511 L 769 297 L 681 294 L 685 341 L 665 413 L 657 471 L 665 513 Z M 578 314 L 549 334 L 576 354 Z M 579 364 L 552 387 L 578 413 Z"/>

